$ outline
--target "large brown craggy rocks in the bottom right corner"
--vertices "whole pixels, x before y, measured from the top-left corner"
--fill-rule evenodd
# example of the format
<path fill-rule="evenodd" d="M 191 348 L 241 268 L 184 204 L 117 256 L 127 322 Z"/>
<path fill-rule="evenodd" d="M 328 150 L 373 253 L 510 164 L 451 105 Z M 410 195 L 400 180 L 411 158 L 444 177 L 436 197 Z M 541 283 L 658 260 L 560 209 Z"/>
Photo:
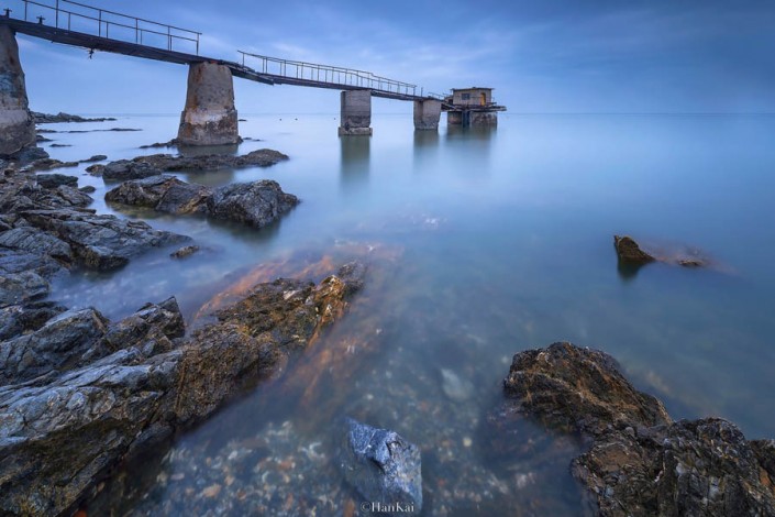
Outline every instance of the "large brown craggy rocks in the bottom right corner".
<path fill-rule="evenodd" d="M 608 354 L 554 343 L 514 355 L 502 419 L 536 418 L 591 442 L 574 477 L 604 516 L 775 515 L 775 442 L 719 418 L 674 422 Z"/>

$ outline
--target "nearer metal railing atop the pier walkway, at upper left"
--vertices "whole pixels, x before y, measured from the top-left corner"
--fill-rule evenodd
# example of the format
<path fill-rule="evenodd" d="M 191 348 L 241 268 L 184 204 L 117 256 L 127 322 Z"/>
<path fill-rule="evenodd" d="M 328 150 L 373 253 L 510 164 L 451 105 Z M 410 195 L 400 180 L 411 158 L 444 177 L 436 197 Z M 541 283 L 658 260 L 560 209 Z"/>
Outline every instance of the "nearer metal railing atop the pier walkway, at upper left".
<path fill-rule="evenodd" d="M 201 33 L 188 29 L 131 16 L 107 9 L 99 9 L 70 0 L 53 0 L 49 3 L 41 3 L 34 0 L 15 0 L 9 3 L 15 3 L 16 6 L 21 3 L 24 4 L 23 20 L 26 22 L 37 21 L 40 24 L 46 24 L 44 22 L 48 20 L 48 24 L 56 29 L 68 31 L 78 30 L 79 32 L 92 31 L 93 33 L 95 29 L 97 29 L 96 35 L 98 37 L 162 48 L 164 47 L 158 44 L 148 43 L 148 40 L 152 42 L 164 40 L 167 51 L 173 51 L 173 42 L 182 42 L 186 45 L 193 44 L 193 46 L 196 46 L 196 54 L 199 55 L 199 36 L 201 36 Z M 63 6 L 67 9 L 64 9 Z M 4 8 L 3 11 L 7 18 L 22 19 L 21 16 L 11 16 L 13 9 Z M 53 16 L 53 23 L 51 18 L 46 19 L 44 14 Z M 111 29 L 113 33 L 112 37 Z M 115 37 L 117 32 L 123 37 Z M 126 37 L 128 34 L 129 37 Z M 134 35 L 134 42 L 132 42 L 132 34 Z"/>

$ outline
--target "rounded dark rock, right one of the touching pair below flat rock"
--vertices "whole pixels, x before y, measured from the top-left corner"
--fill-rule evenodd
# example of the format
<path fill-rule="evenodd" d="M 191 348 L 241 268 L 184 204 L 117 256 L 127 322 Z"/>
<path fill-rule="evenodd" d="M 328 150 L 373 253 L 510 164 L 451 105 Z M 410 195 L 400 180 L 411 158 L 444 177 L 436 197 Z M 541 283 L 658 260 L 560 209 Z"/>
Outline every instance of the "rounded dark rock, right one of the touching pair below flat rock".
<path fill-rule="evenodd" d="M 219 187 L 208 199 L 208 213 L 215 219 L 264 228 L 299 204 L 283 191 L 277 182 L 264 179 Z"/>

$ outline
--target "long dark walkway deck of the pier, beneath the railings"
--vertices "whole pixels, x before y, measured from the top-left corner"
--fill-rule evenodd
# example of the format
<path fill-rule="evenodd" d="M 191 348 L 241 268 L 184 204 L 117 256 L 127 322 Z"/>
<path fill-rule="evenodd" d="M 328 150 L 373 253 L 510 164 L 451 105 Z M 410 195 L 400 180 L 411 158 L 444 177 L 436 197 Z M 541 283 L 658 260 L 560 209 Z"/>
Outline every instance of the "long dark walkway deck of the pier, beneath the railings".
<path fill-rule="evenodd" d="M 396 100 L 428 100 L 434 97 L 430 95 L 418 96 L 413 92 L 408 91 L 391 91 L 388 89 L 380 89 L 378 87 L 373 87 L 374 85 L 363 86 L 362 84 L 347 84 L 343 81 L 332 81 L 332 80 L 320 80 L 314 78 L 305 77 L 294 77 L 287 74 L 274 74 L 268 72 L 259 72 L 246 66 L 244 63 L 240 64 L 236 62 L 218 59 L 213 57 L 206 57 L 198 54 L 190 54 L 185 52 L 173 51 L 170 48 L 159 48 L 151 45 L 143 45 L 139 43 L 126 42 L 122 40 L 114 40 L 111 37 L 104 37 L 101 35 L 87 34 L 84 32 L 70 31 L 62 28 L 56 28 L 52 25 L 46 25 L 44 23 L 33 23 L 24 20 L 19 20 L 10 16 L 0 15 L 0 24 L 9 25 L 13 31 L 26 34 L 33 37 L 40 37 L 42 40 L 47 40 L 53 43 L 62 43 L 65 45 L 79 46 L 87 50 L 111 52 L 114 54 L 123 54 L 128 56 L 141 57 L 145 59 L 155 59 L 167 63 L 176 64 L 192 64 L 192 63 L 219 63 L 228 66 L 232 75 L 243 79 L 254 80 L 257 82 L 263 82 L 266 85 L 294 85 L 294 86 L 306 86 L 311 88 L 326 88 L 326 89 L 337 89 L 337 90 L 370 90 L 374 97 L 381 97 L 386 99 Z M 171 40 L 170 40 L 171 42 Z M 171 46 L 171 45 L 170 45 Z M 247 54 L 250 55 L 250 54 Z M 244 54 L 243 54 L 244 56 Z M 263 57 L 263 56 L 255 56 Z M 285 62 L 283 59 L 277 59 L 277 62 Z M 294 64 L 295 62 L 286 62 Z M 321 65 L 315 65 L 321 66 Z M 333 68 L 333 67 L 328 67 Z M 281 70 L 280 70 L 281 72 Z M 388 84 L 398 84 L 397 81 L 390 81 L 389 79 L 384 79 Z M 412 87 L 412 85 L 400 84 L 405 86 Z M 398 89 L 398 88 L 397 88 Z"/>

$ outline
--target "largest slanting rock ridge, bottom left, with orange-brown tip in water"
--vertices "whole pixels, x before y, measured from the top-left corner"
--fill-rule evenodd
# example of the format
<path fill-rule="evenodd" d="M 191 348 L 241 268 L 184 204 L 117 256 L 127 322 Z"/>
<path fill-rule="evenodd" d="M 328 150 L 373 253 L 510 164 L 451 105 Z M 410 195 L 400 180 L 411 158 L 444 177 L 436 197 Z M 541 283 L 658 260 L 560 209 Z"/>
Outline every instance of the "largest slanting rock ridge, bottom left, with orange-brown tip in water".
<path fill-rule="evenodd" d="M 4 341 L 0 356 L 11 359 L 0 382 L 0 513 L 74 510 L 123 458 L 207 418 L 314 341 L 362 285 L 354 272 L 363 268 L 342 268 L 318 285 L 256 285 L 190 338 L 169 299 L 115 323 L 93 309 L 63 312 Z M 84 331 L 63 324 L 67 318 Z M 34 343 L 32 364 L 4 353 L 19 339 Z"/>

